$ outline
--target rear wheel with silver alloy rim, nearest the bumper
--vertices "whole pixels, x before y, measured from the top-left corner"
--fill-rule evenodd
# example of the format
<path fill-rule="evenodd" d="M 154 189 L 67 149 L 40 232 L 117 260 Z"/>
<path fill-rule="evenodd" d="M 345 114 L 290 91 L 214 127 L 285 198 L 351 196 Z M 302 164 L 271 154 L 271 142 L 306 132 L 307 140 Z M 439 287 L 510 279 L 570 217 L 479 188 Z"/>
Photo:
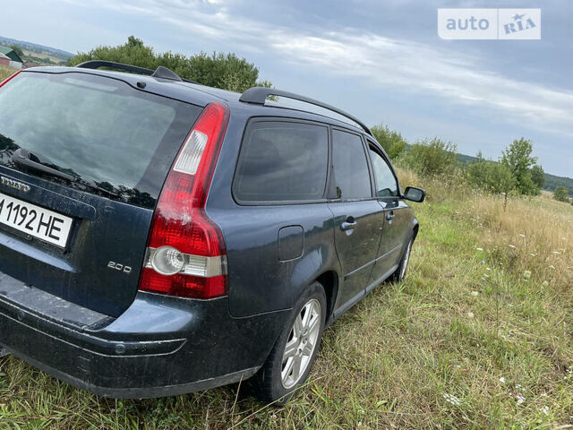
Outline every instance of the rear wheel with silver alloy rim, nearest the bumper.
<path fill-rule="evenodd" d="M 252 388 L 261 400 L 282 406 L 295 396 L 311 372 L 325 321 L 324 288 L 313 282 L 296 301 L 267 361 L 253 378 Z"/>

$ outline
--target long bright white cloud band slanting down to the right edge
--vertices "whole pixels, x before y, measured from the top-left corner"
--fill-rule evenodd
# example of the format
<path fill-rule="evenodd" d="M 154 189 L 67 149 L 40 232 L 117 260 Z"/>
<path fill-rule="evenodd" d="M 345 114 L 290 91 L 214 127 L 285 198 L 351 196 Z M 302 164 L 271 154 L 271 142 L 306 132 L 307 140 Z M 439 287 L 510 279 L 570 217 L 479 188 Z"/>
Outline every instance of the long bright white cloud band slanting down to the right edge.
<path fill-rule="evenodd" d="M 466 107 L 490 107 L 509 120 L 573 135 L 571 92 L 494 73 L 481 67 L 485 62 L 478 56 L 355 30 L 273 38 L 269 44 L 282 58 L 320 65 L 325 73 L 435 95 Z"/>

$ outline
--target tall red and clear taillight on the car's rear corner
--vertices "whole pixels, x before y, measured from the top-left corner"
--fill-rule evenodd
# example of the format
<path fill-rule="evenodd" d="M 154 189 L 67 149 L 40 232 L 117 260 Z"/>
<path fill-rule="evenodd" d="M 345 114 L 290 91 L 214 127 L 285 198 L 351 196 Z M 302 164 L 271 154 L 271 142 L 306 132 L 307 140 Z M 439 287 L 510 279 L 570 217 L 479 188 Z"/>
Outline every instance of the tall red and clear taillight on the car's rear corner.
<path fill-rule="evenodd" d="M 151 221 L 139 289 L 178 297 L 227 295 L 227 254 L 205 213 L 228 108 L 210 103 L 177 154 Z"/>

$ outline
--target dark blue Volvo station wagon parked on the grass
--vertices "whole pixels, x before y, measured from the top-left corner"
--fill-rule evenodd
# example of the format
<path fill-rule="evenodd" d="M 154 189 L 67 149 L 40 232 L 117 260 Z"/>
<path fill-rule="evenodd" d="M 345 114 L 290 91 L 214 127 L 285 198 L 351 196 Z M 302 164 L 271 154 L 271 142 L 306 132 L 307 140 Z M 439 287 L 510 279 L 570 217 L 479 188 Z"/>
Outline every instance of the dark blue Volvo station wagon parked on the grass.
<path fill-rule="evenodd" d="M 252 377 L 284 403 L 324 328 L 404 278 L 423 199 L 316 100 L 22 71 L 0 84 L 0 351 L 116 398 Z"/>

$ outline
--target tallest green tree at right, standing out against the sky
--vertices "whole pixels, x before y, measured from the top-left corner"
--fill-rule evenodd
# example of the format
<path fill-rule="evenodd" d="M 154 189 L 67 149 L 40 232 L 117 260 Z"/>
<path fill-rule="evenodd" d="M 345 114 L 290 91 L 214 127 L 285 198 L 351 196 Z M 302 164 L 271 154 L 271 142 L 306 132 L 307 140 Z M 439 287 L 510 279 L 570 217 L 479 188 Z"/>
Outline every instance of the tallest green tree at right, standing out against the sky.
<path fill-rule="evenodd" d="M 516 179 L 516 189 L 522 194 L 537 194 L 540 189 L 532 179 L 531 168 L 535 166 L 537 159 L 531 156 L 533 144 L 531 141 L 521 138 L 513 141 L 506 150 L 501 153 L 501 164 L 507 166 Z"/>

